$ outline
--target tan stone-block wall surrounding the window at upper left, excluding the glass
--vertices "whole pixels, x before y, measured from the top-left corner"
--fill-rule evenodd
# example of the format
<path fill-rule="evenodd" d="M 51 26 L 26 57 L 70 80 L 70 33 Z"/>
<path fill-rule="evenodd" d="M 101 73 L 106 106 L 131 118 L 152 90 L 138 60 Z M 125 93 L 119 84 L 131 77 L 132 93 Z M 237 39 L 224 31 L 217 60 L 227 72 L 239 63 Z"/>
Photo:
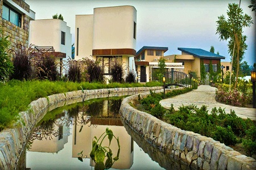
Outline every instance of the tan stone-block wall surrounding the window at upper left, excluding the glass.
<path fill-rule="evenodd" d="M 30 6 L 22 0 L 13 0 L 17 5 L 22 7 L 27 12 L 30 12 Z M 2 18 L 2 6 L 3 0 L 0 2 L 0 25 L 2 25 L 2 35 L 9 36 L 11 42 L 10 49 L 16 50 L 15 43 L 22 43 L 22 45 L 28 47 L 28 35 L 30 27 L 30 19 L 26 14 L 22 14 L 22 28 Z M 1 35 L 0 35 L 1 36 Z"/>

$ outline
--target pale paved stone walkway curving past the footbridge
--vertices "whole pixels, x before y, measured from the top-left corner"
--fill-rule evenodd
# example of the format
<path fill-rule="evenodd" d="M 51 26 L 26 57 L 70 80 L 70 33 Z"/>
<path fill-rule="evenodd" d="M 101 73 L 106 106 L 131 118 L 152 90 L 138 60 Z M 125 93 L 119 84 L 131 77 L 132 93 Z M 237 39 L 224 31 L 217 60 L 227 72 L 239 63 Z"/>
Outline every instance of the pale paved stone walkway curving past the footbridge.
<path fill-rule="evenodd" d="M 225 108 L 226 113 L 230 113 L 230 109 L 235 111 L 237 116 L 242 118 L 249 117 L 251 120 L 256 120 L 256 109 L 255 108 L 241 108 L 241 107 L 234 107 L 231 105 L 226 105 L 222 103 L 218 103 L 215 100 L 215 87 L 210 87 L 208 85 L 201 85 L 197 88 L 197 90 L 193 90 L 186 94 L 178 95 L 175 97 L 171 97 L 168 99 L 164 99 L 160 101 L 160 104 L 164 108 L 170 108 L 171 104 L 174 104 L 175 111 L 182 105 L 191 105 L 195 104 L 198 108 L 202 105 L 206 105 L 208 108 L 208 113 L 212 111 L 212 108 L 219 107 Z"/>

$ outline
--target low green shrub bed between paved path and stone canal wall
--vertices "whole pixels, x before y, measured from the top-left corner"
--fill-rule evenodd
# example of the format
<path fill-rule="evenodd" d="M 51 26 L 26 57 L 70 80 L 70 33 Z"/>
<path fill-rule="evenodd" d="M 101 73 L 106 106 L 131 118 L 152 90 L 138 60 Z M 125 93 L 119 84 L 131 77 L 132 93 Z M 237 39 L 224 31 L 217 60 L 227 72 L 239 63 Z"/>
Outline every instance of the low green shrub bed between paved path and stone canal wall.
<path fill-rule="evenodd" d="M 190 91 L 172 90 L 167 92 L 166 97 L 179 95 Z M 247 118 L 243 120 L 236 116 L 234 111 L 225 113 L 222 108 L 213 108 L 208 114 L 207 107 L 197 108 L 196 105 L 180 107 L 175 111 L 173 105 L 170 109 L 164 109 L 159 101 L 163 99 L 163 93 L 156 94 L 151 91 L 147 97 L 134 101 L 133 107 L 140 111 L 147 112 L 168 122 L 177 128 L 193 131 L 216 141 L 220 141 L 234 150 L 247 156 L 256 154 L 256 122 Z"/>

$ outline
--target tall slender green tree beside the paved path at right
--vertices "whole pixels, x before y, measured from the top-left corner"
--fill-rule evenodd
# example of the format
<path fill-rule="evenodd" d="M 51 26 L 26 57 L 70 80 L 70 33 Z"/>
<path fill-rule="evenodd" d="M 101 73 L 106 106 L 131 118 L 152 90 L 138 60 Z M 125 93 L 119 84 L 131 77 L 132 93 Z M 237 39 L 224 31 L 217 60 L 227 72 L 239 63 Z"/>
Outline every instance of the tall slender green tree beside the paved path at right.
<path fill-rule="evenodd" d="M 234 88 L 237 87 L 238 72 L 240 67 L 240 51 L 241 41 L 246 39 L 242 35 L 244 27 L 250 27 L 253 23 L 251 16 L 244 14 L 242 8 L 236 3 L 229 3 L 228 6 L 228 19 L 224 15 L 218 16 L 217 20 L 217 32 L 220 35 L 220 40 L 229 40 L 229 53 L 232 54 L 232 62 L 234 61 L 234 54 L 236 52 L 237 70 L 236 70 L 236 83 Z M 231 44 L 233 43 L 234 46 Z M 231 55 L 230 55 L 231 56 Z M 233 66 L 233 65 L 232 65 Z M 231 77 L 230 77 L 231 78 Z M 230 88 L 229 88 L 230 89 Z"/>

